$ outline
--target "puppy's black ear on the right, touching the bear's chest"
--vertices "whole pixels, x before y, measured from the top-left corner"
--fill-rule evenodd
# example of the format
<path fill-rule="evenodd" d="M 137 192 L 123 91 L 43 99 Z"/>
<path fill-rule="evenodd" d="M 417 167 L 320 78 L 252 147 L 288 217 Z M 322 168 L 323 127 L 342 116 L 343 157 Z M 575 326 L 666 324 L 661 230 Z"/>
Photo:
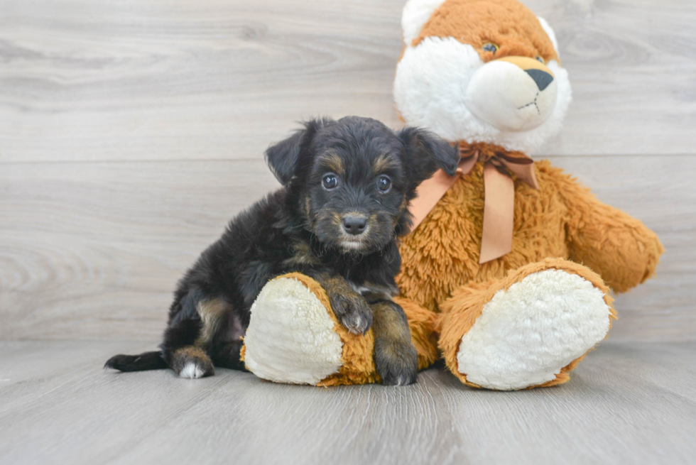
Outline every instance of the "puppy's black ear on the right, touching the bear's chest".
<path fill-rule="evenodd" d="M 398 136 L 406 148 L 406 167 L 414 189 L 431 177 L 437 168 L 442 168 L 450 176 L 457 171 L 461 158 L 457 146 L 452 147 L 440 136 L 420 128 L 403 128 Z"/>

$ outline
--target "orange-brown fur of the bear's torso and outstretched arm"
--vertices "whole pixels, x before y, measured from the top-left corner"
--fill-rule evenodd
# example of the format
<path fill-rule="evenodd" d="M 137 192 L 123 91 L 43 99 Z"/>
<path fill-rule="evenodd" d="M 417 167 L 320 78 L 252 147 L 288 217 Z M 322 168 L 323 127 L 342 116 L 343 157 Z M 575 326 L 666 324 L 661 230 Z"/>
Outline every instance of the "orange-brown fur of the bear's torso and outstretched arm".
<path fill-rule="evenodd" d="M 457 180 L 401 245 L 403 295 L 437 312 L 462 285 L 500 279 L 547 257 L 584 263 L 616 292 L 653 275 L 663 247 L 641 221 L 599 202 L 547 160 L 535 162 L 535 175 L 538 190 L 515 180 L 512 251 L 480 265 L 483 164 Z"/>

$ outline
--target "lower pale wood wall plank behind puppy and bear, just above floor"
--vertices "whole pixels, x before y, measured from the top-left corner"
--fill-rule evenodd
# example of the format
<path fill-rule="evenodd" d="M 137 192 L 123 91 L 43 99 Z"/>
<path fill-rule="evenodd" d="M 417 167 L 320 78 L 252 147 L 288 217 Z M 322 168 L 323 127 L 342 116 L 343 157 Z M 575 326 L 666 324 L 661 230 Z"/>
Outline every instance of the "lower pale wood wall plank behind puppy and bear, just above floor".
<path fill-rule="evenodd" d="M 556 157 L 656 231 L 658 276 L 616 302 L 616 340 L 696 337 L 696 157 Z M 665 182 L 668 180 L 669 182 Z M 176 280 L 278 186 L 261 160 L 12 163 L 0 171 L 0 339 L 158 341 Z"/>

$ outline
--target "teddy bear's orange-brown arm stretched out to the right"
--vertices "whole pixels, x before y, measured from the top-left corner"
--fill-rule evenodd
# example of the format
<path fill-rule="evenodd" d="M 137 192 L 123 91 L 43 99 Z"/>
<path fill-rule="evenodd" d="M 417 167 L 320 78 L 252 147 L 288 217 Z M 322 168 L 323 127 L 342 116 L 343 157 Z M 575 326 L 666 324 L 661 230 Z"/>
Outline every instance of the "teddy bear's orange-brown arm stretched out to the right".
<path fill-rule="evenodd" d="M 664 248 L 641 221 L 599 200 L 562 175 L 560 195 L 568 207 L 570 258 L 599 273 L 615 292 L 626 292 L 655 273 Z"/>

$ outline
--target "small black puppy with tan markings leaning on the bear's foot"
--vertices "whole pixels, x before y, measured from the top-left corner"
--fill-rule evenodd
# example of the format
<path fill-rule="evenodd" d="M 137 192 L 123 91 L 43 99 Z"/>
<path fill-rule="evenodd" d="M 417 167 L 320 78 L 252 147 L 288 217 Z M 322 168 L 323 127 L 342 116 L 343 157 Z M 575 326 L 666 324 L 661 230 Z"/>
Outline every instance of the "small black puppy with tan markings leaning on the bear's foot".
<path fill-rule="evenodd" d="M 266 160 L 283 187 L 230 221 L 175 292 L 161 351 L 117 355 L 121 371 L 172 368 L 183 378 L 244 369 L 240 337 L 249 308 L 271 278 L 298 271 L 319 282 L 339 321 L 370 327 L 383 383 L 415 382 L 418 359 L 406 315 L 391 300 L 401 266 L 398 236 L 415 187 L 437 168 L 454 174 L 460 155 L 416 128 L 379 121 L 315 119 L 271 146 Z"/>

